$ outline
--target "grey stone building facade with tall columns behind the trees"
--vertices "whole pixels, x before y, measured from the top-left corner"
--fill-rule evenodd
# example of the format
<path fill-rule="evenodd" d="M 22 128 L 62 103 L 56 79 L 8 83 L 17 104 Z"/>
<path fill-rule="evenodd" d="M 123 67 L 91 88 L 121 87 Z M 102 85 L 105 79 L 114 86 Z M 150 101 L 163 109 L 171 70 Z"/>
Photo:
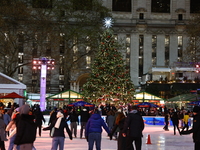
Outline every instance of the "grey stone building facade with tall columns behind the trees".
<path fill-rule="evenodd" d="M 199 0 L 102 0 L 103 5 L 112 11 L 113 30 L 119 41 L 126 47 L 121 52 L 129 66 L 131 79 L 135 86 L 150 80 L 173 80 L 183 78 L 193 80 L 197 74 L 194 67 L 176 65 L 183 62 L 183 51 L 188 40 L 186 24 L 192 14 L 197 13 Z M 85 60 L 87 61 L 87 60 Z M 86 62 L 73 69 L 70 89 L 80 92 L 86 82 L 90 67 Z M 57 67 L 57 69 L 56 69 Z M 51 72 L 48 86 L 50 93 L 63 89 L 63 74 L 56 66 Z M 34 78 L 30 67 L 24 67 L 23 79 L 28 92 Z M 31 78 L 31 80 L 30 80 Z M 26 83 L 27 82 L 27 83 Z M 36 82 L 36 81 L 35 81 Z M 34 83 L 35 84 L 35 83 Z"/>

